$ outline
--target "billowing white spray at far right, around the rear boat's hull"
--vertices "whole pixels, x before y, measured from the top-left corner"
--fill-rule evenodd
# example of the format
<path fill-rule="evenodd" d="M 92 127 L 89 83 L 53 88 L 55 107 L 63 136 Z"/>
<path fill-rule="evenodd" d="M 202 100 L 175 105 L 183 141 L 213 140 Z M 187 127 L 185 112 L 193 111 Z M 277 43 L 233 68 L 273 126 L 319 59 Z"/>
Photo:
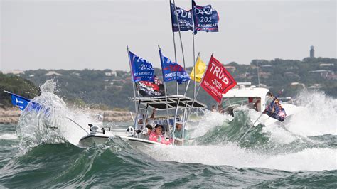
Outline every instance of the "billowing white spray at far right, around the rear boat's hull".
<path fill-rule="evenodd" d="M 288 144 L 298 136 L 321 136 L 324 134 L 337 135 L 337 100 L 326 96 L 323 92 L 301 92 L 296 98 L 298 107 L 289 120 L 283 125 L 284 131 L 278 121 L 264 126 L 263 132 L 271 136 L 272 141 Z M 286 108 L 285 108 L 286 109 Z M 287 109 L 286 109 L 287 112 Z M 255 121 L 260 113 L 250 111 L 251 121 Z M 270 117 L 263 115 L 261 122 L 272 122 Z M 297 136 L 296 136 L 297 135 Z"/>

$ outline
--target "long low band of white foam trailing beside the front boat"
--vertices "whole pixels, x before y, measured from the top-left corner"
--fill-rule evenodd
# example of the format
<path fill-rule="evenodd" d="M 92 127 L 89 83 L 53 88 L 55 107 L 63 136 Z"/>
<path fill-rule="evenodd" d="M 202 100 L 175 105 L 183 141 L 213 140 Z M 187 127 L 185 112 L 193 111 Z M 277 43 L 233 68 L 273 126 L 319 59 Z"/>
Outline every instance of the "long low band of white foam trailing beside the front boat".
<path fill-rule="evenodd" d="M 237 168 L 273 168 L 287 171 L 336 170 L 336 149 L 311 148 L 296 153 L 268 155 L 237 147 L 225 146 L 153 146 L 146 151 L 158 161 L 202 163 Z"/>

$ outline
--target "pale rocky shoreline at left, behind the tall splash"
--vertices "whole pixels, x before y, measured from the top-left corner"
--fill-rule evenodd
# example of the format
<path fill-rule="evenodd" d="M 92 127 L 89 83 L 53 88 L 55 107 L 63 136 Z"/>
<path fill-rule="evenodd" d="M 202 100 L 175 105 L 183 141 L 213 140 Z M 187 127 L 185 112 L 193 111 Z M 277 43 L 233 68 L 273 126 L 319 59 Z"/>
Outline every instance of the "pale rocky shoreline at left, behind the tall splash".
<path fill-rule="evenodd" d="M 89 114 L 92 114 L 93 117 L 97 116 L 98 114 L 102 115 L 103 121 L 105 122 L 132 121 L 130 112 L 99 109 L 90 109 L 87 111 Z M 16 107 L 5 109 L 0 108 L 0 124 L 17 124 L 20 114 L 21 111 Z"/>

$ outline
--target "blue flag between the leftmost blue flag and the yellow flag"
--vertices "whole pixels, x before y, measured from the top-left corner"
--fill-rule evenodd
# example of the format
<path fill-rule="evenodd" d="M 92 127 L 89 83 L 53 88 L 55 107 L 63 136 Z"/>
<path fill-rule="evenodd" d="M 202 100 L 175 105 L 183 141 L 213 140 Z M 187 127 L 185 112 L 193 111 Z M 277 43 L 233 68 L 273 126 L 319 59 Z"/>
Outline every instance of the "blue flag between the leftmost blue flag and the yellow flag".
<path fill-rule="evenodd" d="M 178 65 L 169 58 L 165 57 L 163 54 L 161 54 L 161 50 L 159 50 L 159 55 L 161 58 L 161 71 L 163 72 L 164 82 L 176 80 L 178 84 L 181 84 L 190 80 L 190 76 L 185 70 L 183 70 L 181 65 Z"/>

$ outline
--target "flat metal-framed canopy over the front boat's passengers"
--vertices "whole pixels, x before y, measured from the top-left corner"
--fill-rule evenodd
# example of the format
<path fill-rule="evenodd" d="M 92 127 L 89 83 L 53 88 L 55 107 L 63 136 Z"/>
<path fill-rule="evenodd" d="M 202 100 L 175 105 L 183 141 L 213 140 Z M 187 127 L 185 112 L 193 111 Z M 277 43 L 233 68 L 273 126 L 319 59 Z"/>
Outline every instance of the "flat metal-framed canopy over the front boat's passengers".
<path fill-rule="evenodd" d="M 197 100 L 194 101 L 190 97 L 186 97 L 184 95 L 168 95 L 167 96 L 167 103 L 166 103 L 166 97 L 160 96 L 160 97 L 130 97 L 132 101 L 140 102 L 141 104 L 145 105 L 149 104 L 150 107 L 156 108 L 156 109 L 176 109 L 178 100 L 178 108 L 207 108 L 207 106 L 201 102 L 198 102 Z M 193 103 L 193 105 L 192 105 Z M 166 108 L 167 104 L 167 108 Z"/>

